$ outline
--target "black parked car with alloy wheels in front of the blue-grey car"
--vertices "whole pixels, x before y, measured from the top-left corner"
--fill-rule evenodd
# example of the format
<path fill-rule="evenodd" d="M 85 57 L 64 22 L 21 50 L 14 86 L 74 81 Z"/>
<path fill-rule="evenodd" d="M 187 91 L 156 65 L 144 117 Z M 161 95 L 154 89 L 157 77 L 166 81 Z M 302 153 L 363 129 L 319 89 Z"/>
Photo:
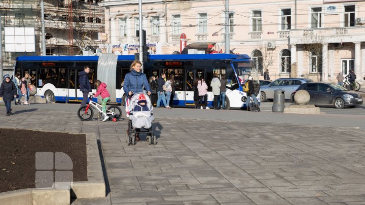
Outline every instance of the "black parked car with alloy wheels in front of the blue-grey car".
<path fill-rule="evenodd" d="M 304 83 L 293 93 L 307 90 L 310 95 L 309 104 L 315 106 L 334 106 L 337 109 L 354 108 L 362 105 L 362 96 L 353 91 L 333 83 Z"/>

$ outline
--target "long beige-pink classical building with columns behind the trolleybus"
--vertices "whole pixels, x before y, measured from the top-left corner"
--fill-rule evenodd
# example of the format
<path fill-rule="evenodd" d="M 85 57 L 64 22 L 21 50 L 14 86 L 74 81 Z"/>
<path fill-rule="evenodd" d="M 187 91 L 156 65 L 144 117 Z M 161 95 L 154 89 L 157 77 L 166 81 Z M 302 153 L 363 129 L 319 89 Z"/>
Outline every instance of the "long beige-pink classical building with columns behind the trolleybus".
<path fill-rule="evenodd" d="M 365 75 L 365 1 L 229 1 L 229 30 L 225 29 L 225 1 L 143 0 L 142 28 L 152 54 L 180 51 L 180 35 L 191 43 L 215 43 L 225 52 L 246 53 L 259 73 L 271 79 L 304 77 L 337 82 L 341 72 Z M 103 52 L 136 52 L 138 0 L 104 0 L 107 43 Z M 107 48 L 106 48 L 107 47 Z M 263 77 L 261 76 L 263 79 Z"/>

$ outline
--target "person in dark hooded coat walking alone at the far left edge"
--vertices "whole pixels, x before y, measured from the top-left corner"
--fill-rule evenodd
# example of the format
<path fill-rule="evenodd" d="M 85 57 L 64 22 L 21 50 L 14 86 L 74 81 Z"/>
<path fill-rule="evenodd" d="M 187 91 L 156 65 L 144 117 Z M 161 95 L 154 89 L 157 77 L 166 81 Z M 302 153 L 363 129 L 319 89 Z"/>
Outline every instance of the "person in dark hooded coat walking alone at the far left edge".
<path fill-rule="evenodd" d="M 16 97 L 17 89 L 13 81 L 10 80 L 9 75 L 4 76 L 4 81 L 0 86 L 0 97 L 3 97 L 5 107 L 7 109 L 7 116 L 11 115 L 11 101 Z"/>

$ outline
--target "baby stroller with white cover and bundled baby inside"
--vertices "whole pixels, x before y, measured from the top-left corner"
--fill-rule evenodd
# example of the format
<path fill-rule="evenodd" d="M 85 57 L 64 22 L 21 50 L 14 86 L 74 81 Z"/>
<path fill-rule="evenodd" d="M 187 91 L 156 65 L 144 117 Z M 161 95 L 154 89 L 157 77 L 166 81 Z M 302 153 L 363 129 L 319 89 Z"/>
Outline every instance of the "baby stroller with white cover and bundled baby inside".
<path fill-rule="evenodd" d="M 145 103 L 144 103 L 145 102 Z M 144 103 L 144 105 L 142 105 Z M 135 134 L 146 133 L 147 143 L 156 145 L 156 136 L 152 130 L 153 106 L 150 97 L 144 93 L 136 93 L 128 97 L 126 101 L 126 112 L 128 121 L 128 131 L 126 135 L 127 145 L 135 145 Z M 136 131 L 139 128 L 139 131 Z"/>

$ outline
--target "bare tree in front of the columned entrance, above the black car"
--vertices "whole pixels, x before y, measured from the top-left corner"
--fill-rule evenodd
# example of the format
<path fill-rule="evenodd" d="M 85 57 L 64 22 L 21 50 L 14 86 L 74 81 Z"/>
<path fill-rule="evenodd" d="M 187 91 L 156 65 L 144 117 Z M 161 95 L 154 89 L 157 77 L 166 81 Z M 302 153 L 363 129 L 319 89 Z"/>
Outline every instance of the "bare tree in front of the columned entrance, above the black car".
<path fill-rule="evenodd" d="M 307 51 L 308 57 L 311 58 L 312 67 L 310 69 L 317 74 L 317 81 L 320 82 L 322 76 L 319 74 L 322 73 L 322 64 L 324 60 L 327 60 L 327 57 L 323 56 L 322 53 L 325 41 L 321 33 L 315 35 L 313 33 L 309 34 L 310 36 L 306 38 L 303 48 Z"/>

